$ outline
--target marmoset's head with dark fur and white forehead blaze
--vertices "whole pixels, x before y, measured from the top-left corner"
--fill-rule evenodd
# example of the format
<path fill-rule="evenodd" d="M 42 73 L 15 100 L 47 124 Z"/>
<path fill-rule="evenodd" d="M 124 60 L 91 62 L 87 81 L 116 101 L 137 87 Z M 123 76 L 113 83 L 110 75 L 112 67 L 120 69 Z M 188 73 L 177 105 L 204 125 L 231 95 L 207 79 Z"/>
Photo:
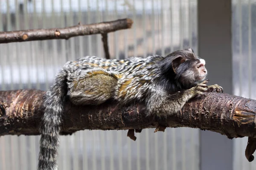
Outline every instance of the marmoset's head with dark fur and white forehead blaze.
<path fill-rule="evenodd" d="M 174 51 L 163 60 L 162 71 L 169 72 L 183 87 L 189 87 L 206 78 L 205 60 L 194 54 L 191 48 Z"/>

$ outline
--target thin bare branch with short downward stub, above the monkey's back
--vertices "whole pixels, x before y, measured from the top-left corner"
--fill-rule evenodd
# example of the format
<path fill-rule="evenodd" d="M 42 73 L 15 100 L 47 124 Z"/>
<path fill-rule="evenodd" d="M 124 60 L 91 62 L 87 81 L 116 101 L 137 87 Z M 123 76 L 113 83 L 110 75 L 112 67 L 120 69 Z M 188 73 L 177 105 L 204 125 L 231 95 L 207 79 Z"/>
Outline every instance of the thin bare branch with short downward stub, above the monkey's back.
<path fill-rule="evenodd" d="M 50 29 L 31 29 L 21 31 L 0 32 L 0 43 L 24 42 L 34 40 L 51 40 L 51 39 L 69 39 L 71 37 L 91 34 L 102 34 L 102 42 L 105 50 L 105 57 L 110 58 L 108 51 L 108 33 L 131 28 L 133 21 L 129 18 L 115 20 L 103 23 L 94 23 L 88 25 L 50 28 Z"/>

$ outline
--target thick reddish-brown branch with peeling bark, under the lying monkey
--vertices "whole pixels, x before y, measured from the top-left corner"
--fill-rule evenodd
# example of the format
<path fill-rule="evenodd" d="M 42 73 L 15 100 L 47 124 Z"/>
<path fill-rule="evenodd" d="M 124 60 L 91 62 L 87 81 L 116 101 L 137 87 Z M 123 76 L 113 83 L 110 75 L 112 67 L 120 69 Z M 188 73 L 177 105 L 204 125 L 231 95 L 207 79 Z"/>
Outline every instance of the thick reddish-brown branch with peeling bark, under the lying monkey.
<path fill-rule="evenodd" d="M 38 135 L 44 109 L 44 93 L 39 90 L 0 91 L 0 135 Z M 203 97 L 187 102 L 180 112 L 162 119 L 160 125 L 211 130 L 230 139 L 249 136 L 246 157 L 252 161 L 256 148 L 255 113 L 256 100 L 229 94 L 206 93 Z M 136 103 L 122 108 L 118 108 L 116 103 L 75 106 L 67 97 L 61 134 L 84 129 L 136 129 L 137 132 L 153 127 L 160 129 L 159 121 L 146 116 L 143 104 Z M 130 130 L 128 136 L 134 138 L 133 134 L 134 131 Z"/>

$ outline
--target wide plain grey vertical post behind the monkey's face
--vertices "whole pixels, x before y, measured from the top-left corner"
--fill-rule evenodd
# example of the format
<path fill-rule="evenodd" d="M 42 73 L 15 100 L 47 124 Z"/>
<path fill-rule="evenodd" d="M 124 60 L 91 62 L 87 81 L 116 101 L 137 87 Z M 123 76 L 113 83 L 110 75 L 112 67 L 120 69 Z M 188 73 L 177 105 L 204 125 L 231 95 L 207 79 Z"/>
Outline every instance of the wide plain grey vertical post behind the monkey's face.
<path fill-rule="evenodd" d="M 207 78 L 214 84 L 221 84 L 226 89 L 224 93 L 229 94 L 232 93 L 233 88 L 231 1 L 198 0 L 198 55 L 204 56 L 206 62 L 209 63 L 207 64 L 209 71 Z M 233 141 L 227 139 L 226 136 L 201 130 L 200 154 L 202 170 L 233 169 Z"/>

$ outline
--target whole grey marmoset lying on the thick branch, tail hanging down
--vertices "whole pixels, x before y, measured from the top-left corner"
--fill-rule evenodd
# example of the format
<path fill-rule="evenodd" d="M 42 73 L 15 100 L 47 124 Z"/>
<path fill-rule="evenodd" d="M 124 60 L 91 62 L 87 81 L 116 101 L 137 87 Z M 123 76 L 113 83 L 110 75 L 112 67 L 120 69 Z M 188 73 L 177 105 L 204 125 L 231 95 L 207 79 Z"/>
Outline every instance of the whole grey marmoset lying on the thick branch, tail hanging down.
<path fill-rule="evenodd" d="M 68 91 L 75 105 L 138 101 L 145 102 L 148 115 L 161 117 L 177 113 L 189 99 L 203 92 L 223 92 L 218 85 L 206 85 L 204 65 L 204 59 L 191 48 L 166 57 L 117 60 L 87 56 L 67 62 L 44 96 L 38 170 L 58 169 L 58 135 Z"/>

